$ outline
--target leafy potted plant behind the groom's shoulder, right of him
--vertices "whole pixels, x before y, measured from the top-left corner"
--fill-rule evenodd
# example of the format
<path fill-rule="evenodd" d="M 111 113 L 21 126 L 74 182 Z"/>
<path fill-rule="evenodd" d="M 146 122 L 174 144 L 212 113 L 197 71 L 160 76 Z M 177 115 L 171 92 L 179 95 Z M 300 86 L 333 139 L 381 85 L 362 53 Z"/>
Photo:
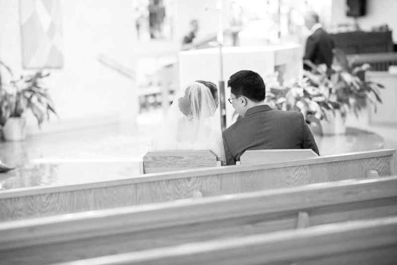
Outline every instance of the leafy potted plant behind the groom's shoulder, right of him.
<path fill-rule="evenodd" d="M 368 64 L 352 68 L 343 54 L 335 54 L 335 59 L 331 71 L 320 65 L 305 71 L 300 81 L 272 85 L 266 103 L 275 109 L 301 111 L 307 121 L 320 125 L 322 134 L 345 133 L 346 113 L 352 111 L 358 117 L 366 99 L 376 111 L 383 86 L 359 78 L 370 68 Z"/>

